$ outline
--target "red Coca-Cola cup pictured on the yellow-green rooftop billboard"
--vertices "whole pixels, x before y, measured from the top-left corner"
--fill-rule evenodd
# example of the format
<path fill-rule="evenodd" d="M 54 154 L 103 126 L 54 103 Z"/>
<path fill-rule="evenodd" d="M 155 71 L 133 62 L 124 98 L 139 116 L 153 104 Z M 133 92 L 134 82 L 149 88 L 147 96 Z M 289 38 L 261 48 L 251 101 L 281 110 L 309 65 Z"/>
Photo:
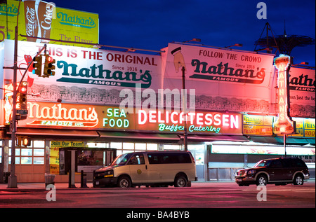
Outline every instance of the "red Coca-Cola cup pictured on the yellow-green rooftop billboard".
<path fill-rule="evenodd" d="M 24 1 L 27 41 L 40 42 L 40 39 L 32 37 L 50 38 L 54 7 L 45 1 Z"/>

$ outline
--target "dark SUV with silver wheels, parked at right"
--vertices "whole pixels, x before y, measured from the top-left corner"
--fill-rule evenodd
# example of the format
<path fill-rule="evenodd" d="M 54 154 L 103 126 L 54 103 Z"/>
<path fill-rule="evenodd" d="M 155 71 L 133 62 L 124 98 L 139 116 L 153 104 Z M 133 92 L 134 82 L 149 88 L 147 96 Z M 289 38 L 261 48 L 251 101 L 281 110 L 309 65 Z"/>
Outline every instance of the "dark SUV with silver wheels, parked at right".
<path fill-rule="evenodd" d="M 265 186 L 268 183 L 275 185 L 303 185 L 310 174 L 305 162 L 299 158 L 274 158 L 260 160 L 249 169 L 240 169 L 235 174 L 235 181 L 239 186 Z"/>

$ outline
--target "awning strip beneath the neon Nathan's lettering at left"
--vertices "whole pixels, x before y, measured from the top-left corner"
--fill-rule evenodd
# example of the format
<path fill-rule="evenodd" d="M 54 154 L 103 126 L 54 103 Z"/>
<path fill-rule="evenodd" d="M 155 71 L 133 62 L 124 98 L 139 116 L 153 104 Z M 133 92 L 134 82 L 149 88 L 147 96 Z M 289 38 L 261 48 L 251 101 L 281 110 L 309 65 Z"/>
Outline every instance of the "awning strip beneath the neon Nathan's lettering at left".
<path fill-rule="evenodd" d="M 11 132 L 8 132 L 11 134 Z M 99 137 L 93 130 L 52 130 L 52 129 L 32 129 L 18 128 L 17 135 L 25 136 L 54 136 L 54 137 Z"/>

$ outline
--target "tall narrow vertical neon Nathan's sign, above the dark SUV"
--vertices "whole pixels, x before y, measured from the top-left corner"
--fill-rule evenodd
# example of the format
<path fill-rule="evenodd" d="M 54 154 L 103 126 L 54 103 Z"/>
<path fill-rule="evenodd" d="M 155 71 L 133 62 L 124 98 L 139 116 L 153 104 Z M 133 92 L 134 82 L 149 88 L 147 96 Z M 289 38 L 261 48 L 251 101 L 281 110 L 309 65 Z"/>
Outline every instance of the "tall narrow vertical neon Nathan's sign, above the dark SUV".
<path fill-rule="evenodd" d="M 289 55 L 279 55 L 275 58 L 275 67 L 277 68 L 277 120 L 273 123 L 273 132 L 275 134 L 291 134 L 295 130 L 294 121 L 289 118 Z"/>

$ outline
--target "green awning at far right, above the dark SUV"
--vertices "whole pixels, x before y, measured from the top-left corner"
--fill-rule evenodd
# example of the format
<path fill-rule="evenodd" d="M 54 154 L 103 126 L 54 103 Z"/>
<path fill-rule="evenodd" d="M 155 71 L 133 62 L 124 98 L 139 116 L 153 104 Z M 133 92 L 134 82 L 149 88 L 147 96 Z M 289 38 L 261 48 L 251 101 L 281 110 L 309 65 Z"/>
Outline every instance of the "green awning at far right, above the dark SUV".
<path fill-rule="evenodd" d="M 283 137 L 250 137 L 251 141 L 264 144 L 284 144 Z M 287 137 L 286 144 L 289 145 L 305 145 L 309 144 L 304 138 Z"/>

